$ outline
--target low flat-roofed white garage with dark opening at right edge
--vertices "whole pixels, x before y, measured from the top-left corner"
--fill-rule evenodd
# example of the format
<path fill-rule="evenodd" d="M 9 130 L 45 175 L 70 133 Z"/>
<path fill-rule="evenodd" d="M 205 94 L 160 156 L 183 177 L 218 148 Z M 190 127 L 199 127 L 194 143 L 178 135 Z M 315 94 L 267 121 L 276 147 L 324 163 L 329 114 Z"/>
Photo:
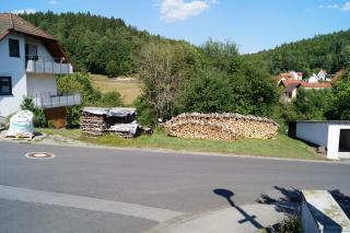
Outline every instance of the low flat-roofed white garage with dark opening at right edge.
<path fill-rule="evenodd" d="M 350 121 L 296 121 L 295 137 L 327 148 L 331 160 L 350 159 Z"/>

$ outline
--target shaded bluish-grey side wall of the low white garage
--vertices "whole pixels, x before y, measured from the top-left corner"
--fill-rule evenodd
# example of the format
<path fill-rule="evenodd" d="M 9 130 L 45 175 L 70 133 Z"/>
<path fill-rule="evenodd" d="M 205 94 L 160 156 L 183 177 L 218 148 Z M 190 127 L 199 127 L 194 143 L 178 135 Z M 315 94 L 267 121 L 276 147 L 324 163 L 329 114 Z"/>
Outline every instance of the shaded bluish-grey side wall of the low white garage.
<path fill-rule="evenodd" d="M 329 123 L 296 123 L 296 138 L 317 145 L 327 147 Z"/>

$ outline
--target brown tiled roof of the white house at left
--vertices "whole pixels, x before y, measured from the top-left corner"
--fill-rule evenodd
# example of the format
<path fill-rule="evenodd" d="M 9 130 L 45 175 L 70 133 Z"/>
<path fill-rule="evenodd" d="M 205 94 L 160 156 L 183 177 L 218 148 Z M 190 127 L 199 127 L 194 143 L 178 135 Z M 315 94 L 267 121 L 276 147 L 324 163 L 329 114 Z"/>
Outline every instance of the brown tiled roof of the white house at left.
<path fill-rule="evenodd" d="M 16 14 L 0 13 L 0 39 L 11 32 L 56 40 L 54 36 L 45 33 L 43 30 L 34 26 L 32 23 L 23 20 Z"/>

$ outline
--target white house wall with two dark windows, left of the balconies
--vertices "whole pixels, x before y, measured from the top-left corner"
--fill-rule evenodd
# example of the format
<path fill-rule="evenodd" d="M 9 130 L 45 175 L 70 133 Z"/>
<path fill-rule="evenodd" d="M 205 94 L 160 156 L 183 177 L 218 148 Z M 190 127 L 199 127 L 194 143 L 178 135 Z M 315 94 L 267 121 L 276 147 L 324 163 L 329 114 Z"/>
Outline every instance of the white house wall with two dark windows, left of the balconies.
<path fill-rule="evenodd" d="M 9 38 L 20 40 L 20 58 L 9 56 Z M 21 35 L 11 34 L 0 40 L 0 75 L 12 78 L 12 95 L 0 95 L 0 116 L 15 113 L 26 95 L 25 43 Z"/>

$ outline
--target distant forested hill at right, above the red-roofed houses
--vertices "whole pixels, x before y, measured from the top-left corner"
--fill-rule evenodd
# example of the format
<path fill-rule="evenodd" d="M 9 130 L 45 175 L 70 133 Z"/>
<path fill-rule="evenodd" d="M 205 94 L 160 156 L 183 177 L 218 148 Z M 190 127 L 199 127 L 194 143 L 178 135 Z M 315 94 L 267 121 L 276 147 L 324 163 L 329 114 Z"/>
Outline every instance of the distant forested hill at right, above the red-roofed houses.
<path fill-rule="evenodd" d="M 284 44 L 246 57 L 261 61 L 271 74 L 296 70 L 310 75 L 315 69 L 336 73 L 349 62 L 349 55 L 350 30 Z"/>

